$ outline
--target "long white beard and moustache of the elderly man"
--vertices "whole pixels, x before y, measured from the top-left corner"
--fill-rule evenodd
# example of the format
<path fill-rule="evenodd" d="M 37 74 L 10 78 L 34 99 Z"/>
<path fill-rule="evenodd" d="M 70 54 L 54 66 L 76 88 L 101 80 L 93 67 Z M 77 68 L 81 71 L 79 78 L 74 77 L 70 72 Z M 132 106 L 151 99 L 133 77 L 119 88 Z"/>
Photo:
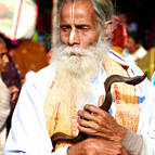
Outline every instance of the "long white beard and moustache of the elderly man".
<path fill-rule="evenodd" d="M 87 50 L 61 46 L 53 53 L 54 60 L 57 61 L 59 87 L 52 91 L 56 102 L 63 101 L 64 104 L 67 104 L 72 102 L 74 95 L 78 109 L 91 103 L 94 93 L 91 80 L 102 65 L 104 49 L 105 44 L 103 43 Z"/>

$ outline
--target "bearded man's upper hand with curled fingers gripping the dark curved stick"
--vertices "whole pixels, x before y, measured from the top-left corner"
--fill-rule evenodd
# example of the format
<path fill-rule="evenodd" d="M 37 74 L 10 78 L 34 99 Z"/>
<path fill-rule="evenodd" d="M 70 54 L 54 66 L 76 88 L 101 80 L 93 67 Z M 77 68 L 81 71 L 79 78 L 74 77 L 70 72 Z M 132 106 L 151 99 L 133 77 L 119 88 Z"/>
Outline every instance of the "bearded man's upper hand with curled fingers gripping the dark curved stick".
<path fill-rule="evenodd" d="M 121 142 L 125 138 L 127 129 L 118 125 L 109 113 L 96 106 L 86 105 L 78 116 L 78 129 L 81 132 L 115 142 Z"/>

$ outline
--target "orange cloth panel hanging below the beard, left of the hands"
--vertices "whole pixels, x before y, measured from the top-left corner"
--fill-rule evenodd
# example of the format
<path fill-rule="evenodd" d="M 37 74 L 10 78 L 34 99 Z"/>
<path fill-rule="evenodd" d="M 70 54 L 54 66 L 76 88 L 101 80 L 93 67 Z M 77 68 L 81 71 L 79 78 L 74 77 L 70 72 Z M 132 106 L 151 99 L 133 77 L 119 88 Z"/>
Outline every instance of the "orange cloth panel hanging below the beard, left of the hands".
<path fill-rule="evenodd" d="M 76 111 L 76 96 L 74 95 L 74 90 L 68 90 L 68 88 L 63 87 L 63 80 L 54 80 L 49 87 L 48 95 L 44 102 L 44 117 L 47 122 L 47 128 L 49 131 L 49 135 L 53 135 L 56 132 L 63 132 L 65 134 L 76 137 L 77 135 L 77 111 Z M 56 89 L 63 89 L 64 94 L 66 90 L 69 93 L 66 93 L 64 98 L 70 98 L 70 102 L 63 102 L 65 99 L 59 99 L 53 101 L 52 91 L 56 87 Z M 59 94 L 57 94 L 59 95 Z M 56 98 L 57 98 L 56 95 Z M 68 96 L 70 95 L 70 96 Z M 61 101 L 60 101 L 61 100 Z M 60 147 L 66 143 L 60 142 L 57 143 Z"/>

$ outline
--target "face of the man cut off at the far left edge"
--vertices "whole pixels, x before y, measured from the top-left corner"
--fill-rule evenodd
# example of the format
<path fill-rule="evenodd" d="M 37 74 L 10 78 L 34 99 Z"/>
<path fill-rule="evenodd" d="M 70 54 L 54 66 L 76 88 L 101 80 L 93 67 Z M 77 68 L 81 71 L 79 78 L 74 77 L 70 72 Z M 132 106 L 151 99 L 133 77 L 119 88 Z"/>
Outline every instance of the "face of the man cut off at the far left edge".
<path fill-rule="evenodd" d="M 4 42 L 0 42 L 0 73 L 4 72 L 7 64 L 9 63 L 8 50 Z"/>

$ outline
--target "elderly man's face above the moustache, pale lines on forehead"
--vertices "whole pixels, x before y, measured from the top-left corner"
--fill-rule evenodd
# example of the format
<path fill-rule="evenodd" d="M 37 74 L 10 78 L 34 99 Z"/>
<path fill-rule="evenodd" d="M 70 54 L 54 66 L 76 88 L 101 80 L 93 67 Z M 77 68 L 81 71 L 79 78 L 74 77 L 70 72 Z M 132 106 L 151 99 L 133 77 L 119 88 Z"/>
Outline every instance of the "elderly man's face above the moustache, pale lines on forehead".
<path fill-rule="evenodd" d="M 100 25 L 89 0 L 66 2 L 61 11 L 60 38 L 69 47 L 86 49 L 98 42 Z"/>

